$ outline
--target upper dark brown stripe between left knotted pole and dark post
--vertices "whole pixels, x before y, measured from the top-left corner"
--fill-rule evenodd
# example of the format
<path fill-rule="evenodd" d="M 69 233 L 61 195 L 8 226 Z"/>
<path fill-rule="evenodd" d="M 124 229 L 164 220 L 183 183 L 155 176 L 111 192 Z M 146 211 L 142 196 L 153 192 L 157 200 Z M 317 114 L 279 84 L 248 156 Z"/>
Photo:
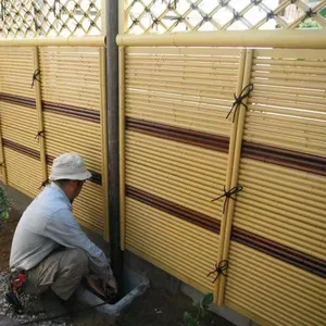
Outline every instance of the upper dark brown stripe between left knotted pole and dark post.
<path fill-rule="evenodd" d="M 100 112 L 89 109 L 78 108 L 74 105 L 59 104 L 48 101 L 42 101 L 42 108 L 46 112 L 52 112 L 71 117 L 87 120 L 93 123 L 100 123 Z"/>

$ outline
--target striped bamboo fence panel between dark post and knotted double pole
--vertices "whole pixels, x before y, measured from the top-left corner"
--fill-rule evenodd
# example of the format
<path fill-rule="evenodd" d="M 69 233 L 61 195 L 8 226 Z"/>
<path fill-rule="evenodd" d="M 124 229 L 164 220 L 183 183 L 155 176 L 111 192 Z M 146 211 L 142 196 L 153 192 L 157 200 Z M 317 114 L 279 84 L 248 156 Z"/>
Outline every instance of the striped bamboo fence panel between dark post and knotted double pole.
<path fill-rule="evenodd" d="M 124 55 L 125 246 L 212 291 L 240 50 L 137 48 Z"/>

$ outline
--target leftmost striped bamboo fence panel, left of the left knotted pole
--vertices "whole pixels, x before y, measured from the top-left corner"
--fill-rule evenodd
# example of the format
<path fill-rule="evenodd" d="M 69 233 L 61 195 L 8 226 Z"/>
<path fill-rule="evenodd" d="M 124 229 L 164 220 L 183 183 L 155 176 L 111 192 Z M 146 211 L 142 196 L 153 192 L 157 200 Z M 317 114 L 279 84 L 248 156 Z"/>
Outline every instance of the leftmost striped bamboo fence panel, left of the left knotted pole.
<path fill-rule="evenodd" d="M 8 184 L 32 197 L 42 183 L 34 71 L 33 48 L 0 49 L 1 163 Z"/>

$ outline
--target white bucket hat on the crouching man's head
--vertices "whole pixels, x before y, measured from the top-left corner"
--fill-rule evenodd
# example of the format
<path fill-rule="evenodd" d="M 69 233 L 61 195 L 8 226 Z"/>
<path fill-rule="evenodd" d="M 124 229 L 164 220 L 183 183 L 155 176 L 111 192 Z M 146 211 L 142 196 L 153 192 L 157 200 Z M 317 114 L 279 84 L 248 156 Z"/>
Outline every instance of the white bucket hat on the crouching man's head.
<path fill-rule="evenodd" d="M 91 173 L 87 171 L 84 159 L 76 153 L 65 153 L 53 161 L 49 180 L 87 180 L 89 178 L 91 178 Z"/>

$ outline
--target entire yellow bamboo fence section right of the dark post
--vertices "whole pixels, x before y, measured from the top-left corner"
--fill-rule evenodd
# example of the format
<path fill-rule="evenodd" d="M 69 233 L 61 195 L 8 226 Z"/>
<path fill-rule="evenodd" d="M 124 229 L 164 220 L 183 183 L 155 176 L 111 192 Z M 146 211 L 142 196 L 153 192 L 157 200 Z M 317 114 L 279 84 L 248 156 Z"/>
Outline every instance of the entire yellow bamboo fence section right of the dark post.
<path fill-rule="evenodd" d="M 226 260 L 218 303 L 263 325 L 323 325 L 326 52 L 162 39 L 120 38 L 126 248 L 202 291 Z"/>

